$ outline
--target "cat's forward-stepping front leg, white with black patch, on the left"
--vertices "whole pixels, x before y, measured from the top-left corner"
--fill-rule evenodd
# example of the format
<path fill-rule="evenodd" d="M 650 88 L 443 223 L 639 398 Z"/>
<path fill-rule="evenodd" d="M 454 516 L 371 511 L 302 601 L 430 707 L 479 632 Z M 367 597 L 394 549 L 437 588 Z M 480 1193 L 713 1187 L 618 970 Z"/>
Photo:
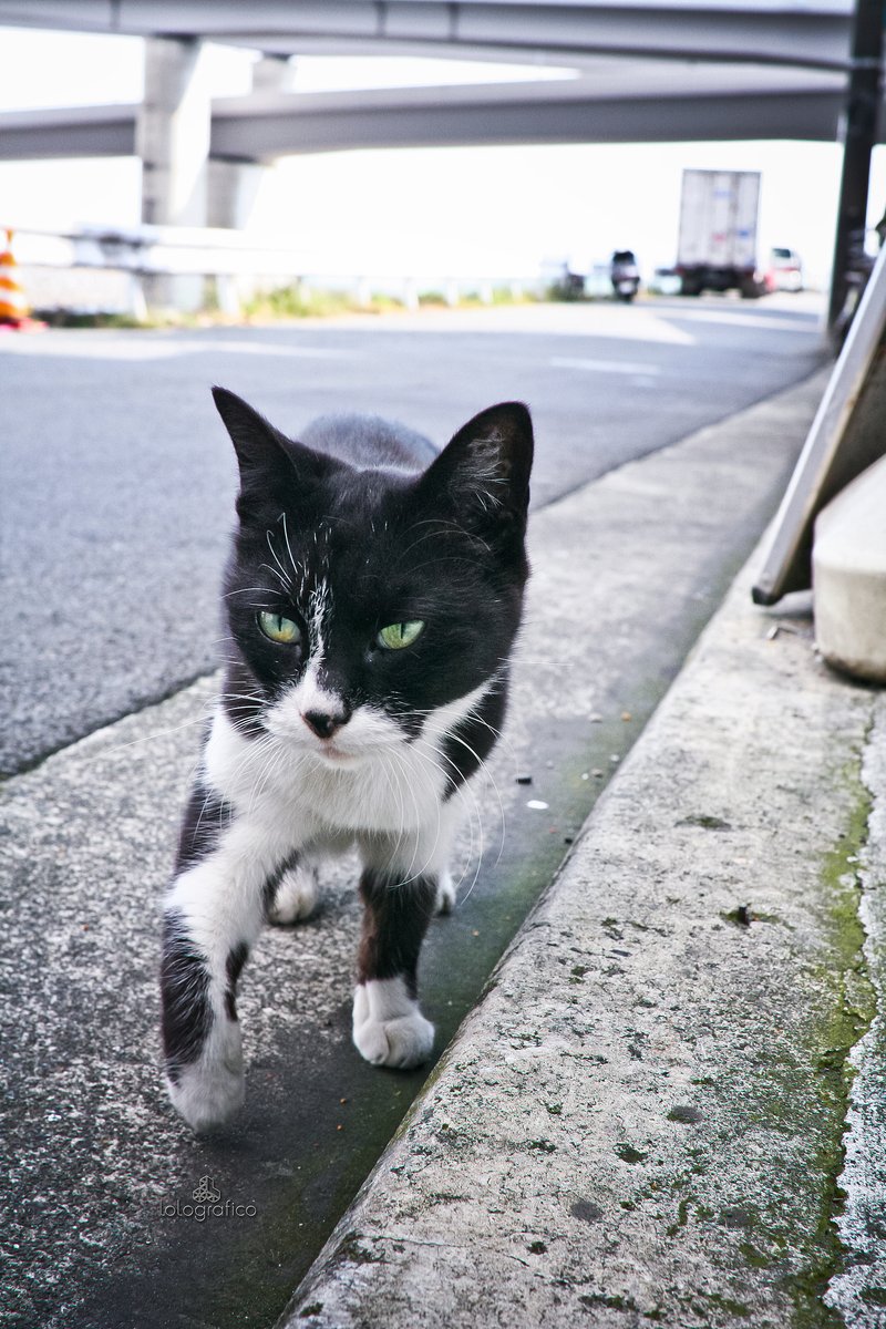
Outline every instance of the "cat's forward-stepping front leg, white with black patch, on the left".
<path fill-rule="evenodd" d="M 268 877 L 263 856 L 238 844 L 244 831 L 228 829 L 206 860 L 179 872 L 165 905 L 166 1082 L 195 1131 L 228 1120 L 243 1102 L 236 982 L 264 920 Z"/>

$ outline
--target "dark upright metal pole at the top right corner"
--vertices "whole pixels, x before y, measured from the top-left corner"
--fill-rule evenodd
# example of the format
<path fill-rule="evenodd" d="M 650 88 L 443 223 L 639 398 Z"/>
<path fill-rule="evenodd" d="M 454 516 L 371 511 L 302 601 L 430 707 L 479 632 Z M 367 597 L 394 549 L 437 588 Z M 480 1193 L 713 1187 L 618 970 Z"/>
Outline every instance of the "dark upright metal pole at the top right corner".
<path fill-rule="evenodd" d="M 882 82 L 885 0 L 855 0 L 851 65 L 846 98 L 843 171 L 830 279 L 828 327 L 833 332 L 853 279 L 865 271 L 865 226 L 870 154 L 877 142 Z"/>

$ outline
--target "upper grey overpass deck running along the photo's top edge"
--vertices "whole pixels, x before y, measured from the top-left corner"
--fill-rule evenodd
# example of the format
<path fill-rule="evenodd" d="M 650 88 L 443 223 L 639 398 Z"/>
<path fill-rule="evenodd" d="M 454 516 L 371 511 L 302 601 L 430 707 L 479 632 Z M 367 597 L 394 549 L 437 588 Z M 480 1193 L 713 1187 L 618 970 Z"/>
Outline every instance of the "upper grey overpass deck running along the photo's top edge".
<path fill-rule="evenodd" d="M 266 53 L 574 62 L 642 54 L 846 68 L 849 0 L 1 0 L 0 25 L 202 37 Z"/>

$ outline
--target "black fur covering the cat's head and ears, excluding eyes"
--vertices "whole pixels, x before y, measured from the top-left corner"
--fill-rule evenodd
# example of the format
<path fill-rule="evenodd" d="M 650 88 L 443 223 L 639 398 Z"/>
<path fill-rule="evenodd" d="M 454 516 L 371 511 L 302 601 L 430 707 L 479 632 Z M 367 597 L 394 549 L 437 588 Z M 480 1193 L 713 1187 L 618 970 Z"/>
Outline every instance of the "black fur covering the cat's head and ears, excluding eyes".
<path fill-rule="evenodd" d="M 260 728 L 311 663 L 348 715 L 371 706 L 406 731 L 493 676 L 503 707 L 529 571 L 527 408 L 481 412 L 428 465 L 426 444 L 397 427 L 319 421 L 306 447 L 232 392 L 214 397 L 240 469 L 227 691 L 256 699 L 230 702 L 235 723 Z M 299 642 L 268 641 L 262 611 L 295 622 Z M 380 649 L 383 629 L 410 622 L 424 623 L 414 643 Z"/>

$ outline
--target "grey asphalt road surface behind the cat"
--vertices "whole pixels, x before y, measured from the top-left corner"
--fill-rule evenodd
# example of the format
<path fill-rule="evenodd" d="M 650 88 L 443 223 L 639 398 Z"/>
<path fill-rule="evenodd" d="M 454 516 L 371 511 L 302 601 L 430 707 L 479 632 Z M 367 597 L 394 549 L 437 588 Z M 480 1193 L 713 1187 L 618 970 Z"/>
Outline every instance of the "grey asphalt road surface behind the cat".
<path fill-rule="evenodd" d="M 209 387 L 283 429 L 365 409 L 442 444 L 519 397 L 534 504 L 806 376 L 806 298 L 539 306 L 0 339 L 0 775 L 215 664 L 235 466 Z"/>

